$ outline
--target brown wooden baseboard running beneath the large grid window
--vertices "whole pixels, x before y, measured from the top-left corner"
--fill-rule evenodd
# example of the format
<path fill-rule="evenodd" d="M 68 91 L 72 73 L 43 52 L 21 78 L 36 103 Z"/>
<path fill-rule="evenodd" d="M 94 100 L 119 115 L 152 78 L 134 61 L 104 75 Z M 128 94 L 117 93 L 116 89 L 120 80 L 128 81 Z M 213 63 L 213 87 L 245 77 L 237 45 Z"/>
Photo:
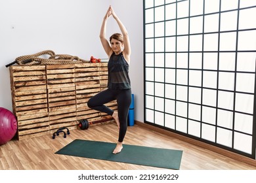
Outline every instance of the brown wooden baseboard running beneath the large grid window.
<path fill-rule="evenodd" d="M 142 127 L 146 127 L 148 129 L 157 131 L 159 133 L 162 133 L 164 135 L 169 135 L 170 137 L 173 137 L 175 139 L 179 139 L 183 142 L 188 142 L 190 144 L 194 144 L 196 146 L 200 146 L 201 148 L 205 148 L 207 150 L 211 150 L 213 152 L 217 152 L 218 154 L 222 154 L 223 156 L 226 156 L 228 158 L 232 158 L 232 159 L 236 159 L 238 161 L 241 161 L 243 163 L 247 163 L 248 165 L 252 165 L 254 167 L 256 167 L 256 160 L 255 159 L 251 159 L 251 158 L 247 158 L 245 156 L 242 156 L 240 154 L 236 154 L 234 152 L 230 152 L 228 150 L 224 150 L 222 148 L 218 148 L 217 146 L 213 146 L 211 144 L 207 144 L 205 142 L 201 142 L 201 141 L 196 141 L 195 139 L 191 139 L 189 137 L 185 137 L 183 135 L 179 135 L 177 133 L 173 133 L 171 131 L 167 131 L 165 129 L 161 129 L 159 127 L 156 127 L 154 125 L 149 125 L 149 124 L 145 124 L 143 122 L 139 122 L 137 120 L 135 120 L 135 124 L 140 125 Z"/>

